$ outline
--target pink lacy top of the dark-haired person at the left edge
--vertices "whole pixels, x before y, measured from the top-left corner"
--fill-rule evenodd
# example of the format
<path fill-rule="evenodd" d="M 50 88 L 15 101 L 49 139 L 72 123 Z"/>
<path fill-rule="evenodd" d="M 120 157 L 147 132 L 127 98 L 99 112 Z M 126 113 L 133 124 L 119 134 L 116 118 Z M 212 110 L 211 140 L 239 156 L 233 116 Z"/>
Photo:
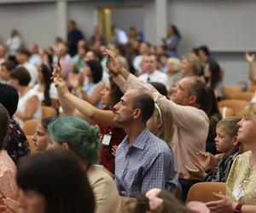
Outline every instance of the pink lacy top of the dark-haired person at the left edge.
<path fill-rule="evenodd" d="M 17 199 L 16 166 L 5 150 L 0 151 L 0 204 L 3 198 Z"/>

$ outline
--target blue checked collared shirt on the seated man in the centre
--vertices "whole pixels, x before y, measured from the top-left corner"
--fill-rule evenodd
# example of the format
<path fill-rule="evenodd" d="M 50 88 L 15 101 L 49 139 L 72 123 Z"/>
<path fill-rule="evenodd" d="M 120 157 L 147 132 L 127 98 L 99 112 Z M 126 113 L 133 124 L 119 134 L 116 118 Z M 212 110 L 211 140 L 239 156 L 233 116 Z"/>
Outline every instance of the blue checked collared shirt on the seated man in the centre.
<path fill-rule="evenodd" d="M 129 146 L 128 136 L 115 157 L 115 182 L 121 196 L 137 197 L 150 188 L 177 192 L 177 172 L 172 149 L 148 128 Z"/>

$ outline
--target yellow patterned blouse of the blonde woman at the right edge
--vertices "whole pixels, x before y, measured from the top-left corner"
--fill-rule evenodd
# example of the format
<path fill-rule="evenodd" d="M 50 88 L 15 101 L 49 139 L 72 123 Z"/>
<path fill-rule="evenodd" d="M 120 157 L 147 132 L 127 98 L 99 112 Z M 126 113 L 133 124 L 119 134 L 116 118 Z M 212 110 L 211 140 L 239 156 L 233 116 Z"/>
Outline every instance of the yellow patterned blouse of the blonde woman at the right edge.
<path fill-rule="evenodd" d="M 252 152 L 238 155 L 226 182 L 226 194 L 240 204 L 256 204 L 256 169 L 250 164 Z"/>

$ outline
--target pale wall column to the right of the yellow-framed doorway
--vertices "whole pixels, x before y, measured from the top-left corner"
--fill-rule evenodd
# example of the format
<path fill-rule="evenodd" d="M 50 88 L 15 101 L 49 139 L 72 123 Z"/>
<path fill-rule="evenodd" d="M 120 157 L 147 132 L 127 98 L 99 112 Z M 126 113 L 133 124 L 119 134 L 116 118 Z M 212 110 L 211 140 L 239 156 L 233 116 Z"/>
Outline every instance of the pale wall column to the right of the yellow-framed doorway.
<path fill-rule="evenodd" d="M 166 37 L 167 28 L 167 7 L 168 0 L 155 0 L 155 41 L 156 44 L 161 43 L 161 38 Z"/>

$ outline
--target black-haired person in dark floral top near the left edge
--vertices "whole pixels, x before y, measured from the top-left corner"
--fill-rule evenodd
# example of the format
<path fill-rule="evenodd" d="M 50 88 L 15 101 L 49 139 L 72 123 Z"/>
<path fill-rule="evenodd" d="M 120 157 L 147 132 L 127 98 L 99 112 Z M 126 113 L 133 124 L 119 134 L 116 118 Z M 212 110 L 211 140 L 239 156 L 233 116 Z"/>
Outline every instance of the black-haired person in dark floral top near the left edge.
<path fill-rule="evenodd" d="M 21 157 L 30 153 L 26 135 L 24 131 L 20 129 L 20 125 L 17 124 L 15 118 L 13 118 L 17 110 L 18 101 L 19 95 L 17 90 L 9 84 L 0 83 L 0 103 L 8 110 L 10 117 L 9 133 L 4 139 L 4 149 L 15 164 L 19 162 Z"/>

